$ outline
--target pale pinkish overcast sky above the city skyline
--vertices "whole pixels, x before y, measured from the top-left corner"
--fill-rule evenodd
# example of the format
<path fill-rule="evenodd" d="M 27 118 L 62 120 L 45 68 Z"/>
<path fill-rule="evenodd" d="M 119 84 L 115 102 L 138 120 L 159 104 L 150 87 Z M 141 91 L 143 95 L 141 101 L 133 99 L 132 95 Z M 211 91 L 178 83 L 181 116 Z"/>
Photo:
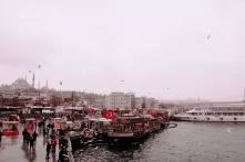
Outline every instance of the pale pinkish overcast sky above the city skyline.
<path fill-rule="evenodd" d="M 0 84 L 242 100 L 244 63 L 244 0 L 0 1 Z"/>

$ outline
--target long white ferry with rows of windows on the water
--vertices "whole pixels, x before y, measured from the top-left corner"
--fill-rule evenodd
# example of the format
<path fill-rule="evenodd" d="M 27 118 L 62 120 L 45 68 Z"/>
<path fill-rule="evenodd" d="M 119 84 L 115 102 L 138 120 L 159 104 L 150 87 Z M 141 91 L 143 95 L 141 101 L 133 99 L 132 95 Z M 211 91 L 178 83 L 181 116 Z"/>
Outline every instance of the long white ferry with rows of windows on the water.
<path fill-rule="evenodd" d="M 198 107 L 174 115 L 174 119 L 182 121 L 245 122 L 245 106 Z"/>

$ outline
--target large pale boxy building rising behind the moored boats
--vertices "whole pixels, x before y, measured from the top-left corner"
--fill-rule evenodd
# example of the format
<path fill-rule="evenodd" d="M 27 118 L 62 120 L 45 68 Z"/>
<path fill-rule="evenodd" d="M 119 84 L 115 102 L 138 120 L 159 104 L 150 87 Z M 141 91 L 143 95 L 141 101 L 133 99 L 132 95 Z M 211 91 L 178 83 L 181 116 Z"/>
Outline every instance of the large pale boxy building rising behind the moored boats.
<path fill-rule="evenodd" d="M 109 109 L 132 109 L 134 107 L 134 94 L 111 93 L 105 97 L 105 107 Z"/>

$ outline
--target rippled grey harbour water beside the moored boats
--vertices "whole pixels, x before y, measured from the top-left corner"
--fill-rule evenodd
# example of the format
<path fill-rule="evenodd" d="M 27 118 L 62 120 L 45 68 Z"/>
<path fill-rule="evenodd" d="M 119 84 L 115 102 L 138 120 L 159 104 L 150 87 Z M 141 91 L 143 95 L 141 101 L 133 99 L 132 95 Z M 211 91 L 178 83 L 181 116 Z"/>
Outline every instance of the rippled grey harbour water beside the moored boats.
<path fill-rule="evenodd" d="M 177 122 L 134 148 L 89 147 L 74 153 L 90 162 L 244 162 L 245 123 Z"/>

